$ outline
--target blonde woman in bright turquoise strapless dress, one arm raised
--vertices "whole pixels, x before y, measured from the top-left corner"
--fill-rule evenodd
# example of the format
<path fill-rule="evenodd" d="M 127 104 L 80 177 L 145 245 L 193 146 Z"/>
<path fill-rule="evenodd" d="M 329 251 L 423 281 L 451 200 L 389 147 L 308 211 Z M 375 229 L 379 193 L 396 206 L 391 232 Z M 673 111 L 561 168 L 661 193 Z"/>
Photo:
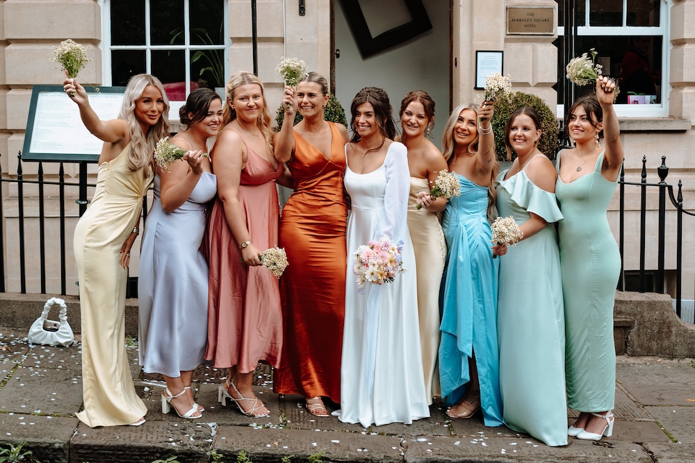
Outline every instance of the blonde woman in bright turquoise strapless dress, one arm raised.
<path fill-rule="evenodd" d="M 497 278 L 490 221 L 496 214 L 493 181 L 498 169 L 490 119 L 493 102 L 461 105 L 450 115 L 442 146 L 461 183 L 443 213 L 447 255 L 439 370 L 451 418 L 471 418 L 482 408 L 487 426 L 502 424 L 497 346 Z M 427 204 L 429 196 L 423 198 Z M 504 253 L 502 249 L 500 252 Z"/>

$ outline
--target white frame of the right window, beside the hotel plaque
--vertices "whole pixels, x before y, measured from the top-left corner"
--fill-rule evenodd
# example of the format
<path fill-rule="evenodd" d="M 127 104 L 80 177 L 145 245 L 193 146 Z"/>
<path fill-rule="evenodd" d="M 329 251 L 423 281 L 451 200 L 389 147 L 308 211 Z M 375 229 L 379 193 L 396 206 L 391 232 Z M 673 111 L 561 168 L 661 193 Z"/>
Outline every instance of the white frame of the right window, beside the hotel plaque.
<path fill-rule="evenodd" d="M 560 0 L 562 1 L 562 0 Z M 589 14 L 591 0 L 584 0 L 585 17 L 584 24 L 589 24 Z M 578 26 L 577 35 L 603 35 L 603 36 L 626 36 L 626 35 L 660 35 L 662 36 L 662 66 L 661 66 L 661 103 L 650 105 L 615 105 L 615 112 L 618 117 L 668 117 L 669 116 L 669 95 L 671 94 L 671 82 L 669 79 L 669 61 L 671 50 L 670 19 L 671 6 L 673 0 L 660 1 L 660 26 L 627 26 L 628 21 L 628 0 L 623 0 L 623 24 L 622 26 Z M 564 26 L 557 27 L 557 35 L 564 35 Z M 575 50 L 577 54 L 582 50 Z M 588 51 L 588 50 L 584 50 Z M 600 50 L 598 50 L 600 52 Z M 564 69 L 563 73 L 564 75 Z M 564 104 L 557 105 L 557 114 L 564 115 Z"/>

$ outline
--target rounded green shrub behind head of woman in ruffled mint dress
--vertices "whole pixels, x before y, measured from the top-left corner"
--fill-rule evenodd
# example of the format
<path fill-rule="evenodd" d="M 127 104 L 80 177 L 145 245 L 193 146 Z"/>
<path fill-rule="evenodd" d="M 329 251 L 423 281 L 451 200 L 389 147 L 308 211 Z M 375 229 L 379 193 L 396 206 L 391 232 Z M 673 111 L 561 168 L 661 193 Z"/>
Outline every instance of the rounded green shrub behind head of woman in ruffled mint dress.
<path fill-rule="evenodd" d="M 557 121 L 553 111 L 548 108 L 546 102 L 539 96 L 524 93 L 512 92 L 502 95 L 495 101 L 495 114 L 492 117 L 492 129 L 495 133 L 495 152 L 500 161 L 507 160 L 507 147 L 505 146 L 505 124 L 509 115 L 520 106 L 530 106 L 538 112 L 541 117 L 541 140 L 538 149 L 550 159 L 555 159 L 557 153 Z M 512 160 L 516 158 L 516 153 L 512 150 Z"/>

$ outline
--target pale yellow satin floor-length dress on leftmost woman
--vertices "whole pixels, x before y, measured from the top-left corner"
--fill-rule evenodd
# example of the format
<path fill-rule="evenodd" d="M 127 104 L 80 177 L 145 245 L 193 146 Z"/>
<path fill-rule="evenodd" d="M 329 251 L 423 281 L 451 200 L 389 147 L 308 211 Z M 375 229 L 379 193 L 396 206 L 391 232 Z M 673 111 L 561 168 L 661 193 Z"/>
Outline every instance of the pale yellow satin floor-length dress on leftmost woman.
<path fill-rule="evenodd" d="M 89 208 L 77 222 L 74 253 L 80 285 L 82 317 L 82 389 L 86 425 L 118 426 L 147 413 L 133 386 L 125 346 L 127 271 L 120 250 L 133 231 L 142 196 L 152 183 L 143 169 L 129 172 L 130 145 L 99 166 L 97 188 Z"/>

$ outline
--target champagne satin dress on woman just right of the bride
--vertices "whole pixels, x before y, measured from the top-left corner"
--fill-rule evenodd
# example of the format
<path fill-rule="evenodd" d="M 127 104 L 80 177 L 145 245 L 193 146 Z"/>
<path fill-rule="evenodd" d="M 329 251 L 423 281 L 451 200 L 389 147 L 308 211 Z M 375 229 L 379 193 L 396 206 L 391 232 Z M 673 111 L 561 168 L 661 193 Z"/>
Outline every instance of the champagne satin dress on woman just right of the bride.
<path fill-rule="evenodd" d="M 439 285 L 444 271 L 446 243 L 439 217 L 425 208 L 417 210 L 419 192 L 430 191 L 427 178 L 410 178 L 408 228 L 415 250 L 418 275 L 418 314 L 420 315 L 420 344 L 423 350 L 423 371 L 427 400 L 440 396 L 439 369 Z"/>

